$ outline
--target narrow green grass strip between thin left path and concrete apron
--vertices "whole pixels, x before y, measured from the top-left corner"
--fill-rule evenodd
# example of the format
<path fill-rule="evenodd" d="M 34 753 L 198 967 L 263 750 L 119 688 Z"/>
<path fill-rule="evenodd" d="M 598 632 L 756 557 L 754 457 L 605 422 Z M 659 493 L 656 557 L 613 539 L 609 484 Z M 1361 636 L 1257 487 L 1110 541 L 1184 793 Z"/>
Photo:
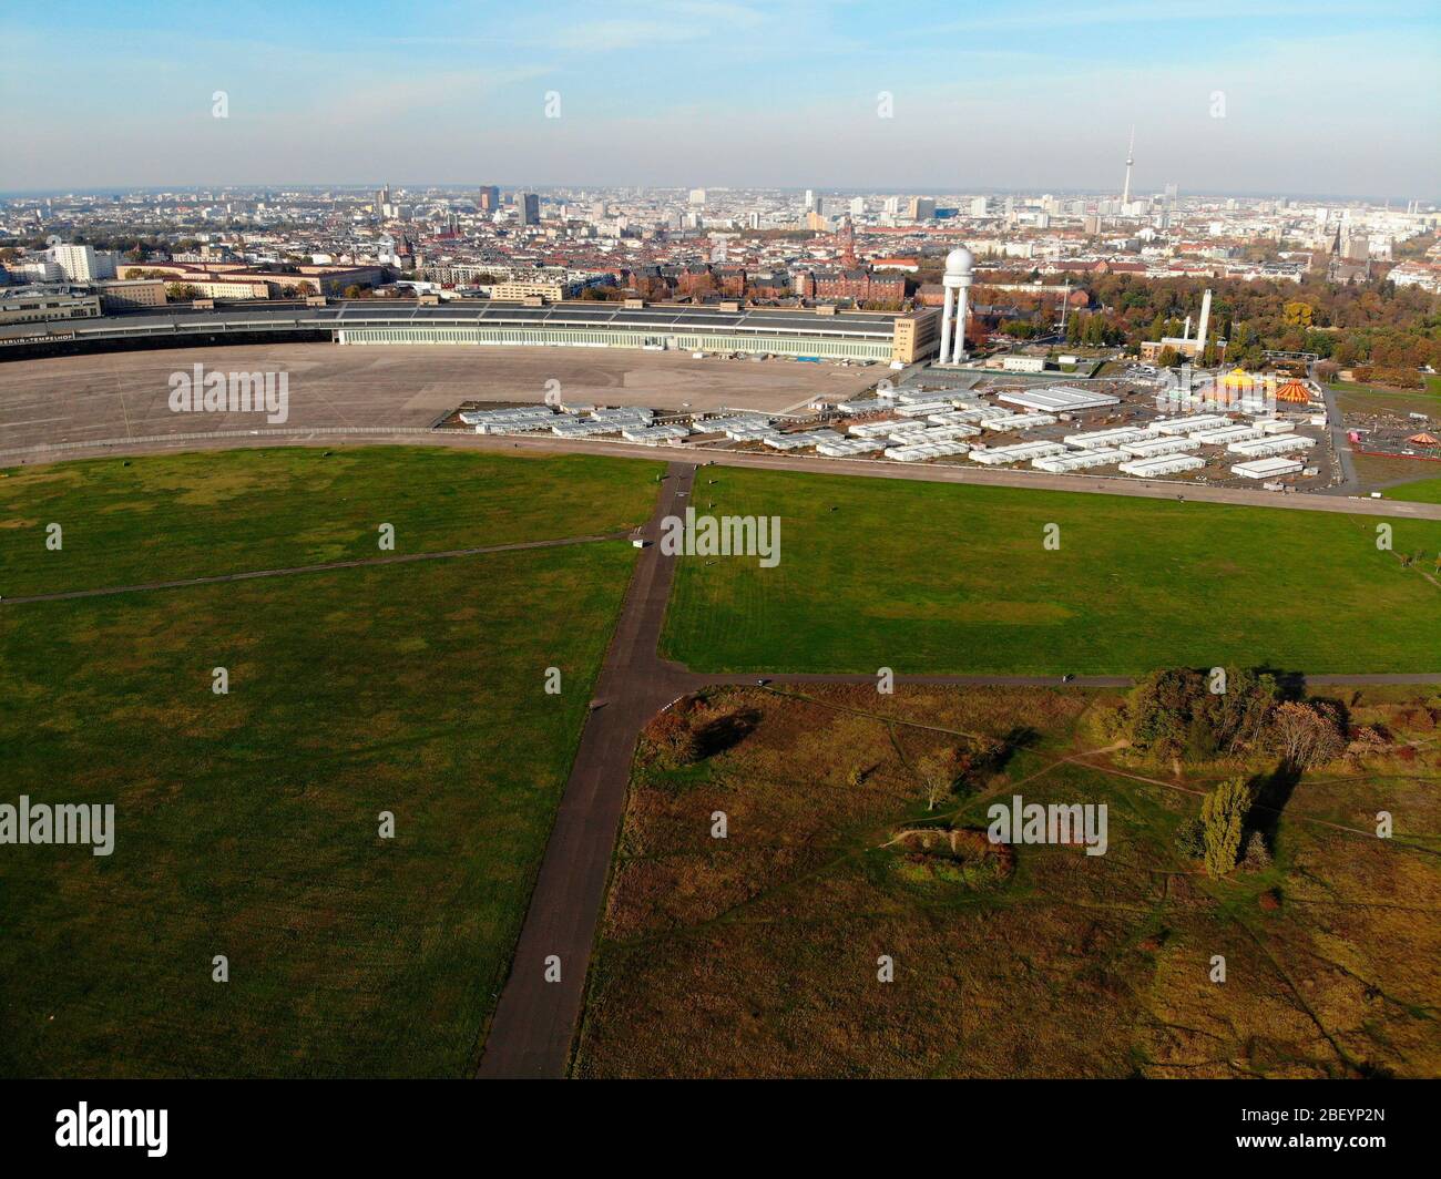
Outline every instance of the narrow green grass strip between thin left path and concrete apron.
<path fill-rule="evenodd" d="M 0 594 L 20 597 L 395 552 L 607 533 L 647 517 L 659 466 L 438 447 L 99 458 L 4 471 Z M 46 526 L 62 528 L 61 551 Z"/>

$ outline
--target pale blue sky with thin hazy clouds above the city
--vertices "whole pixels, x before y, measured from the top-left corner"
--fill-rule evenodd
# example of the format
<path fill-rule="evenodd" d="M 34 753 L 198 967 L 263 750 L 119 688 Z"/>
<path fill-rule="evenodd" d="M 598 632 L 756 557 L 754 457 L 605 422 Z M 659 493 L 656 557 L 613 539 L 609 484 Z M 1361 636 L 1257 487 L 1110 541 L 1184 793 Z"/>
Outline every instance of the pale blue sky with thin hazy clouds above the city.
<path fill-rule="evenodd" d="M 1441 199 L 1435 0 L 45 0 L 0 22 L 0 192 L 1112 192 L 1134 124 L 1140 193 Z"/>

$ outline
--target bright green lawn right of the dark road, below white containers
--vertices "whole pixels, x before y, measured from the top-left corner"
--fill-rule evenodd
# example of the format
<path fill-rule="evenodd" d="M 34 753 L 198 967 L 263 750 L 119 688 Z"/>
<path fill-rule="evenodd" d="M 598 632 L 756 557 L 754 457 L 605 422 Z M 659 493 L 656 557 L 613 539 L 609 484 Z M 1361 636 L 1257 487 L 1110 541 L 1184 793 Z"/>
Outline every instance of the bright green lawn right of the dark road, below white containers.
<path fill-rule="evenodd" d="M 715 468 L 693 502 L 781 517 L 775 568 L 682 559 L 663 647 L 695 670 L 1441 667 L 1441 590 L 1396 556 L 1429 569 L 1438 522 L 1382 552 L 1363 516 Z"/>

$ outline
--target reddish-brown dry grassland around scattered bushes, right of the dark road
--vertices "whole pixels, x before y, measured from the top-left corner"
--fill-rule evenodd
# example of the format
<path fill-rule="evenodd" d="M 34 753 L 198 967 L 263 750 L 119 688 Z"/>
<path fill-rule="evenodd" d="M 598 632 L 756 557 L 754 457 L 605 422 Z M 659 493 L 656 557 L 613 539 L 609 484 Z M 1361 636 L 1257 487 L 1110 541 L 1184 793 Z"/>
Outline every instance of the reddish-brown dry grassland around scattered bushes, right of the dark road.
<path fill-rule="evenodd" d="M 1172 850 L 1203 781 L 1063 760 L 1095 748 L 1104 702 L 909 688 L 713 699 L 758 719 L 696 765 L 637 771 L 575 1072 L 1441 1075 L 1437 858 L 1324 826 L 1362 827 L 1385 796 L 1398 837 L 1425 843 L 1441 830 L 1437 783 L 1368 767 L 1303 780 L 1275 866 L 1213 884 Z M 1408 706 L 1378 706 L 1393 705 Z M 914 765 L 957 734 L 1020 748 L 932 816 Z M 895 871 L 898 830 L 984 827 L 987 800 L 1012 793 L 1105 801 L 1108 853 L 1016 847 L 1014 876 L 986 892 Z M 725 840 L 710 836 L 718 810 Z M 882 954 L 892 983 L 878 982 Z"/>

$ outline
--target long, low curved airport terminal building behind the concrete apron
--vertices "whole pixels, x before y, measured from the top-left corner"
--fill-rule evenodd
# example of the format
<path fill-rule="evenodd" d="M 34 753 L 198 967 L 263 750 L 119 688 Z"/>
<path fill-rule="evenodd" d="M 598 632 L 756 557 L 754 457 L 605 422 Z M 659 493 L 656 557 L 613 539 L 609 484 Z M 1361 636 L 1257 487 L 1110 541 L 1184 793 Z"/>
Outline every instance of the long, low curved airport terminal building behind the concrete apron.
<path fill-rule="evenodd" d="M 195 339 L 199 337 L 199 339 Z M 0 333 L 35 355 L 52 350 L 167 347 L 246 340 L 333 340 L 340 344 L 471 344 L 494 347 L 633 347 L 914 363 L 940 346 L 940 316 L 821 308 L 739 308 L 474 301 L 344 303 L 326 307 L 246 306 L 170 308 L 81 323 L 27 324 Z"/>

